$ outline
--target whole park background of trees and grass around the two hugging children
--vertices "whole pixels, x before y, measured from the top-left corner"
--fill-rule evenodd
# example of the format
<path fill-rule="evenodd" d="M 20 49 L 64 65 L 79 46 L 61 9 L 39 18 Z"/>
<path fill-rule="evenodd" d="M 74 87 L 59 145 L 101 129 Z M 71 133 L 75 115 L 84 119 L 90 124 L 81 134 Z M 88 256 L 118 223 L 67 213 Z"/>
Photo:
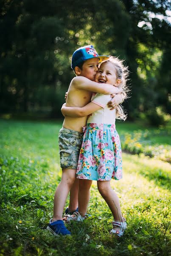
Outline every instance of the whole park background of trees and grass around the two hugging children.
<path fill-rule="evenodd" d="M 165 0 L 0 2 L 0 256 L 169 253 L 171 9 Z M 112 181 L 128 229 L 109 236 L 112 217 L 93 183 L 89 213 L 70 238 L 46 227 L 60 181 L 58 132 L 78 47 L 129 66 L 128 113 L 117 122 L 123 180 Z M 67 201 L 68 204 L 68 201 Z"/>

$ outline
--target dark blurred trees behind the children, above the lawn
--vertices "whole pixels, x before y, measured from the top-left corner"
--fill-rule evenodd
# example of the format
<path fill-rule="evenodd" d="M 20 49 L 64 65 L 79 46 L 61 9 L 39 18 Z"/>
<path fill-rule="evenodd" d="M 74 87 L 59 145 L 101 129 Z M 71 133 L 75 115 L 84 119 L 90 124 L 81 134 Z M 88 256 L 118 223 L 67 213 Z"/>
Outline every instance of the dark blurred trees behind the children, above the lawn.
<path fill-rule="evenodd" d="M 129 66 L 128 119 L 165 125 L 171 112 L 170 1 L 2 0 L 0 114 L 62 118 L 73 51 L 93 44 Z"/>

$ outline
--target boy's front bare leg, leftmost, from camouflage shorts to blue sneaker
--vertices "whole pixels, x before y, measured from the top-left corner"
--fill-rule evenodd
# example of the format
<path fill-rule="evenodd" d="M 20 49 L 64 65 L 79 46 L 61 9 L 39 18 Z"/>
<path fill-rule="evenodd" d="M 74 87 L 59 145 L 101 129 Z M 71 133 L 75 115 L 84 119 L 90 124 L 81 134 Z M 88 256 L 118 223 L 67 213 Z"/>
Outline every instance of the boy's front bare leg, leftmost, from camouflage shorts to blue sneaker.
<path fill-rule="evenodd" d="M 68 193 L 73 186 L 76 177 L 76 169 L 62 169 L 62 178 L 54 196 L 53 219 L 62 220 L 62 213 Z"/>

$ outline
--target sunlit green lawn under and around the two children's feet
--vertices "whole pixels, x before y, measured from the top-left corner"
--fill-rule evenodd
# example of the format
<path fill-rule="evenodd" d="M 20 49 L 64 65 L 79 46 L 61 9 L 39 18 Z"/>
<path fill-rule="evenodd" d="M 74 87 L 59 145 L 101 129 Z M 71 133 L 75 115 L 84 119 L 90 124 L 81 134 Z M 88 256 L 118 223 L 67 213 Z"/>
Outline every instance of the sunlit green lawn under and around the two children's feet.
<path fill-rule="evenodd" d="M 137 129 L 124 124 L 127 131 Z M 0 121 L 0 256 L 168 256 L 171 166 L 143 154 L 123 153 L 123 179 L 111 182 L 128 222 L 123 238 L 109 235 L 112 216 L 95 181 L 91 217 L 68 226 L 71 237 L 53 237 L 46 230 L 61 177 L 57 142 L 61 125 Z M 118 124 L 119 134 L 122 131 Z"/>

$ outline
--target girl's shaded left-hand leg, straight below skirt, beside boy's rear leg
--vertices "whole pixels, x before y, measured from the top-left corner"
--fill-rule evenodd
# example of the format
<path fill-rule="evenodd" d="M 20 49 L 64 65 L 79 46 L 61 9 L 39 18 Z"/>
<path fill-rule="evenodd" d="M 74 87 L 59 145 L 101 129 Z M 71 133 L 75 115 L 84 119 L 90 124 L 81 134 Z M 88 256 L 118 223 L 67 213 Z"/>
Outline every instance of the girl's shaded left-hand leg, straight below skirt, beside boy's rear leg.
<path fill-rule="evenodd" d="M 88 203 L 90 200 L 90 187 L 92 180 L 79 179 L 78 191 L 78 212 L 82 217 L 87 213 Z"/>

